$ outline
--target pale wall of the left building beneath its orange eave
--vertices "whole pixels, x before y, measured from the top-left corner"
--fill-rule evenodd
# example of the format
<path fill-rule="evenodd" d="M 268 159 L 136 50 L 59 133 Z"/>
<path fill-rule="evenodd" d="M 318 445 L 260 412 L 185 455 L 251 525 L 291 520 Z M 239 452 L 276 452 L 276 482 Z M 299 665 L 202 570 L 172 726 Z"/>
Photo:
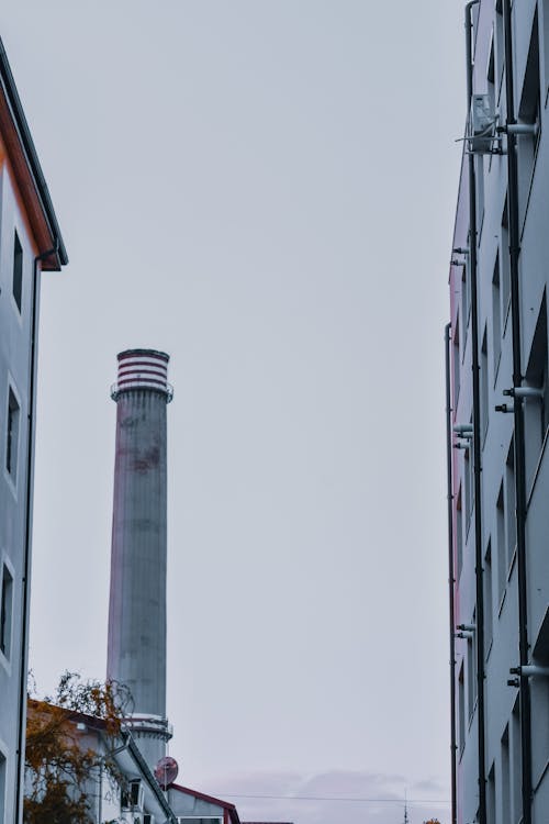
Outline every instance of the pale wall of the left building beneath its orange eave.
<path fill-rule="evenodd" d="M 22 247 L 21 311 L 13 298 L 14 233 Z M 4 595 L 3 633 L 0 637 L 0 753 L 3 765 L 3 819 L 15 821 L 18 719 L 21 692 L 23 624 L 23 559 L 25 547 L 27 412 L 30 332 L 34 250 L 22 210 L 4 162 L 0 169 L 0 600 Z M 12 471 L 7 468 L 8 405 L 10 390 L 19 403 L 16 444 L 12 445 Z M 7 570 L 11 594 L 2 587 Z M 7 598 L 8 595 L 8 598 Z M 11 603 L 5 603 L 11 601 Z M 9 630 L 7 625 L 9 624 Z M 26 662 L 24 670 L 26 671 Z M 0 778 L 1 778 L 0 768 Z M 0 787 L 0 800 L 2 788 Z"/>

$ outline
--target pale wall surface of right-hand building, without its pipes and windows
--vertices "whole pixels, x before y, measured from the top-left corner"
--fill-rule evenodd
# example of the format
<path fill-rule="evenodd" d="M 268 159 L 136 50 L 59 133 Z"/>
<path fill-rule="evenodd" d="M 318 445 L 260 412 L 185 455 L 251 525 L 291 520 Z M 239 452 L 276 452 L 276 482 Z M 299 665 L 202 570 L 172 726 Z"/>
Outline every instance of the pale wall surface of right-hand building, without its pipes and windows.
<path fill-rule="evenodd" d="M 473 92 L 491 92 L 500 120 L 505 122 L 505 78 L 503 19 L 494 0 L 482 0 L 477 21 Z M 549 0 L 523 0 L 513 4 L 515 108 L 519 111 L 535 15 L 539 24 L 539 120 L 536 154 L 531 137 L 519 138 L 518 178 L 522 250 L 520 324 L 523 371 L 526 372 L 536 323 L 544 294 L 549 301 Z M 547 32 L 546 32 L 547 30 Z M 494 77 L 489 66 L 493 49 Z M 467 157 L 460 183 L 453 247 L 468 245 Z M 491 555 L 484 559 L 485 594 L 485 735 L 488 778 L 488 821 L 490 824 L 518 824 L 522 815 L 520 742 L 517 715 L 518 690 L 507 686 L 509 668 L 518 665 L 518 586 L 514 528 L 513 470 L 507 455 L 513 439 L 513 415 L 494 411 L 496 404 L 512 399 L 503 390 L 513 386 L 512 330 L 508 304 L 503 298 L 504 267 L 508 260 L 507 240 L 502 215 L 507 191 L 505 155 L 475 158 L 478 176 L 478 283 L 479 345 L 486 334 L 485 355 L 480 354 L 481 388 L 486 387 L 488 425 L 482 443 L 482 546 Z M 456 258 L 456 255 L 453 255 Z M 464 260 L 464 258 L 461 258 Z M 500 277 L 500 296 L 494 286 Z M 470 315 L 463 311 L 461 266 L 450 271 L 452 337 L 459 339 L 459 377 L 453 377 L 453 420 L 469 423 L 472 414 Z M 547 312 L 547 305 L 546 305 Z M 547 325 L 545 330 L 546 347 Z M 546 353 L 547 353 L 546 349 Z M 501 350 L 501 354 L 500 354 Z M 547 355 L 545 357 L 547 360 Z M 485 381 L 485 382 L 484 382 Z M 484 382 L 484 383 L 483 383 Z M 545 365 L 545 383 L 548 366 Z M 459 392 L 458 390 L 459 383 Z M 482 396 L 482 389 L 481 389 Z M 549 394 L 548 394 L 549 403 Z M 528 514 L 526 521 L 528 565 L 528 628 L 531 654 L 549 665 L 549 447 L 547 427 L 540 422 L 540 402 L 526 402 L 526 452 Z M 546 419 L 549 420 L 549 417 Z M 458 490 L 468 486 L 466 450 L 453 452 L 455 505 Z M 472 455 L 471 455 L 472 463 Z M 498 506 L 503 485 L 505 512 Z M 472 482 L 471 482 L 472 486 Z M 461 515 L 455 512 L 455 527 L 461 523 L 463 563 L 456 587 L 457 624 L 475 621 L 474 510 L 469 515 L 462 500 Z M 503 514 L 503 517 L 502 517 Z M 502 530 L 503 525 L 503 530 Z M 457 558 L 458 536 L 456 537 Z M 544 620 L 546 624 L 542 624 Z M 456 642 L 456 688 L 459 708 L 459 676 L 463 668 L 464 719 L 458 719 L 463 739 L 458 743 L 458 821 L 477 821 L 478 791 L 478 708 L 474 679 L 470 678 L 471 656 L 466 639 Z M 473 662 L 474 667 L 474 662 Z M 549 678 L 530 679 L 533 719 L 534 824 L 549 821 Z M 470 712 L 471 709 L 471 712 Z M 458 736 L 459 737 L 459 736 Z"/>

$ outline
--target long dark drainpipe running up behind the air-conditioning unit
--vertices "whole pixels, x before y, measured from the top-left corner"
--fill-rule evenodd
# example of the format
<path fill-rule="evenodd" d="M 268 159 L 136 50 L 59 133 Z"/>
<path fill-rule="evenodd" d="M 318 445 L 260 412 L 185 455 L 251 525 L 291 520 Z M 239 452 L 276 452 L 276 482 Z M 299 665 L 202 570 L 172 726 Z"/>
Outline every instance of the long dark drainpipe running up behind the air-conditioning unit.
<path fill-rule="evenodd" d="M 471 10 L 480 0 L 466 4 L 466 48 L 467 48 L 467 111 L 469 112 L 473 85 L 472 22 Z M 482 487 L 481 487 L 481 420 L 480 420 L 480 364 L 479 364 L 479 297 L 477 272 L 477 185 L 474 155 L 468 154 L 469 170 L 469 263 L 471 278 L 471 348 L 473 383 L 473 475 L 474 475 L 474 572 L 477 600 L 477 720 L 479 758 L 479 824 L 486 824 L 486 766 L 485 766 L 485 722 L 484 722 L 484 591 L 483 591 L 483 546 L 482 546 Z"/>

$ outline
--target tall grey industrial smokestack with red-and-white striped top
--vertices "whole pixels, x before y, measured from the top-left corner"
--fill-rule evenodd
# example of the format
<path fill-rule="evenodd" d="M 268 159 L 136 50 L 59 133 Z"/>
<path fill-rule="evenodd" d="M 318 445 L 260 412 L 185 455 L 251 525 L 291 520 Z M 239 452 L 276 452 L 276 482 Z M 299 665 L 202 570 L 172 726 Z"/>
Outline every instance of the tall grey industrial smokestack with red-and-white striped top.
<path fill-rule="evenodd" d="M 107 677 L 126 684 L 128 720 L 148 766 L 166 755 L 166 404 L 169 356 L 127 349 L 117 356 L 116 454 L 112 517 Z"/>

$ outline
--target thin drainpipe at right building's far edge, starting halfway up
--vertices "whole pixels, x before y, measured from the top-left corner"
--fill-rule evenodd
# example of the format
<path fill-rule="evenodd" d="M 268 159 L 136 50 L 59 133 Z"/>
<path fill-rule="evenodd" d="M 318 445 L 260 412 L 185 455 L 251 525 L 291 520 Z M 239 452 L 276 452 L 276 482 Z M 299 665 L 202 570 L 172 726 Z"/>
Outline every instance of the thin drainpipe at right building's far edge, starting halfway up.
<path fill-rule="evenodd" d="M 446 469 L 448 499 L 448 603 L 450 624 L 450 775 L 451 775 L 451 824 L 457 824 L 457 781 L 456 781 L 456 611 L 453 603 L 453 493 L 452 493 L 452 436 L 451 436 L 451 391 L 450 391 L 450 330 L 451 323 L 445 326 L 445 366 L 446 366 Z"/>

